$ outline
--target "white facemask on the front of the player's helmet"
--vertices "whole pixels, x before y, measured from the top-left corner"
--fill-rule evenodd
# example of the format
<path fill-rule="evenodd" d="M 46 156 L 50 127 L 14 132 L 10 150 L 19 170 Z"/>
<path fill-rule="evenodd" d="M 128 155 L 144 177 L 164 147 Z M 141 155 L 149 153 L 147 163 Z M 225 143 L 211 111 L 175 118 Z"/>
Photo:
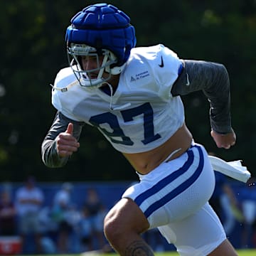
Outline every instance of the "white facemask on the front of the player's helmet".
<path fill-rule="evenodd" d="M 82 87 L 100 87 L 110 80 L 111 75 L 115 75 L 112 73 L 111 66 L 117 63 L 117 57 L 110 50 L 97 50 L 85 44 L 70 43 L 67 51 L 70 68 Z M 100 60 L 100 56 L 103 56 L 102 60 Z M 93 61 L 97 63 L 97 68 L 84 70 L 82 68 L 82 58 L 84 57 L 88 60 L 93 58 Z"/>

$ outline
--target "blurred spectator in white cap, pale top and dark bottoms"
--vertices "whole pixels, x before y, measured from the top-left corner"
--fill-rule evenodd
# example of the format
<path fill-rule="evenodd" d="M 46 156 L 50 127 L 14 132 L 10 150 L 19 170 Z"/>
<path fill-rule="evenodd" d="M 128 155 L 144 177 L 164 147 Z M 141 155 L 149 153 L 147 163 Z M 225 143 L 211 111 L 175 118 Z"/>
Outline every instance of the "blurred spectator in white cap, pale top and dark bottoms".
<path fill-rule="evenodd" d="M 70 210 L 70 194 L 73 189 L 71 183 L 62 184 L 60 191 L 57 191 L 53 199 L 53 218 L 58 223 L 58 252 L 68 253 L 69 239 L 73 232 L 73 227 L 68 221 L 68 211 Z"/>

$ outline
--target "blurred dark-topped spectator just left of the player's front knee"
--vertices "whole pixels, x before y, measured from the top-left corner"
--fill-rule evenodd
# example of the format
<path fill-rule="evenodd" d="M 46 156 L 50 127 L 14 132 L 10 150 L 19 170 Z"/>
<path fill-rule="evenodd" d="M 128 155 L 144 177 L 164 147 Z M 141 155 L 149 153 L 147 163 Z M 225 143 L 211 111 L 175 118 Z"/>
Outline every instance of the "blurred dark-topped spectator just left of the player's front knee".
<path fill-rule="evenodd" d="M 107 212 L 95 188 L 87 189 L 87 198 L 85 199 L 84 208 L 87 209 L 92 236 L 97 239 L 96 242 L 93 243 L 93 246 L 95 250 L 101 250 L 105 246 L 103 221 Z"/>

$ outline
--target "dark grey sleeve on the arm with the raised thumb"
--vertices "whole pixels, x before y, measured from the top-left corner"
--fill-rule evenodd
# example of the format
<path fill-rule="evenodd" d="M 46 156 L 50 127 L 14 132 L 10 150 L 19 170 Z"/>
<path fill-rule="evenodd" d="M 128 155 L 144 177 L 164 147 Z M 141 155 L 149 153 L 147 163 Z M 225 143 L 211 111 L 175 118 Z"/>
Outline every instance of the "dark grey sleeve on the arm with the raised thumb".
<path fill-rule="evenodd" d="M 68 124 L 73 123 L 73 137 L 80 138 L 83 122 L 77 122 L 65 117 L 61 112 L 57 112 L 52 126 L 50 127 L 46 137 L 41 145 L 41 154 L 43 163 L 50 168 L 62 167 L 67 164 L 69 157 L 60 157 L 57 154 L 55 138 L 60 132 L 65 132 Z"/>

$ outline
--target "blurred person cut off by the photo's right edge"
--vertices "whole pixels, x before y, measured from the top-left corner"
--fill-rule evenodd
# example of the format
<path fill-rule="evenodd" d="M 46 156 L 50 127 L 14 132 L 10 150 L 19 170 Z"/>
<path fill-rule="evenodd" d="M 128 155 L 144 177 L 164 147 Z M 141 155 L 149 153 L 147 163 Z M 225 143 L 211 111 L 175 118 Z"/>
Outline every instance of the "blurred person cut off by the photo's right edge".
<path fill-rule="evenodd" d="M 254 227 L 256 225 L 256 186 L 255 178 L 250 178 L 247 181 L 247 186 L 240 191 L 242 198 L 242 213 L 245 216 L 243 231 L 242 231 L 242 247 L 256 247 L 253 241 Z"/>

